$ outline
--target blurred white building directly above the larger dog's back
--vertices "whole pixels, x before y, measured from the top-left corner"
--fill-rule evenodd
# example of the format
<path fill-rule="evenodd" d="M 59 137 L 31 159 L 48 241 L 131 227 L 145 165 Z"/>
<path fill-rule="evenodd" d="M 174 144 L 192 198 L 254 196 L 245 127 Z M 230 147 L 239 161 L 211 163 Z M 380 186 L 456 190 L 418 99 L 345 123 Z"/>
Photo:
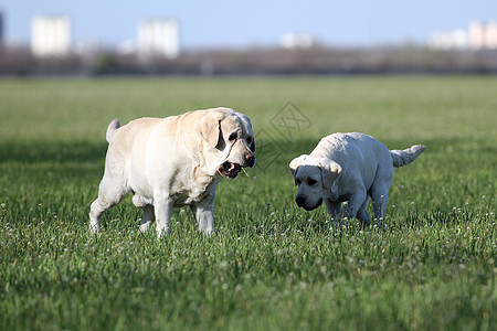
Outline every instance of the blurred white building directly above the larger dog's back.
<path fill-rule="evenodd" d="M 137 51 L 142 56 L 176 58 L 180 52 L 176 20 L 144 20 L 138 24 Z"/>

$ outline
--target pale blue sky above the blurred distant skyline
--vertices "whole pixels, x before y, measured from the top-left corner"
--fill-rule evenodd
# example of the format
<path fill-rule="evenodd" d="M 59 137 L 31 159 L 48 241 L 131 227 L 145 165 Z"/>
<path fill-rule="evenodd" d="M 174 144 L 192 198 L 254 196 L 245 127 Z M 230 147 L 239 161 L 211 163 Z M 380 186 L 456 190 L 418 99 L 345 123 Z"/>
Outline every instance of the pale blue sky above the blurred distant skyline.
<path fill-rule="evenodd" d="M 29 41 L 36 14 L 67 14 L 74 41 L 117 45 L 136 38 L 146 18 L 175 18 L 183 47 L 277 44 L 306 32 L 330 45 L 424 42 L 434 31 L 497 20 L 497 0 L 0 0 L 9 41 Z"/>

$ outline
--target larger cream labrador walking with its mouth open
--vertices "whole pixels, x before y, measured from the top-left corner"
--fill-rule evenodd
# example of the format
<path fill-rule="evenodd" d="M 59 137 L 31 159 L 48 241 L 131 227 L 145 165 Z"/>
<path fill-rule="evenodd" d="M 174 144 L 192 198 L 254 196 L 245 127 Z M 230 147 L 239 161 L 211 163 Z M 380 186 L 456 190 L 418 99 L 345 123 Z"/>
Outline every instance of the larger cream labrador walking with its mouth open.
<path fill-rule="evenodd" d="M 211 233 L 219 180 L 255 164 L 251 120 L 229 108 L 139 118 L 123 127 L 114 119 L 106 138 L 104 178 L 89 212 L 92 232 L 101 229 L 105 210 L 133 192 L 133 203 L 144 210 L 140 231 L 157 221 L 160 237 L 169 231 L 172 207 L 189 205 L 199 228 Z"/>

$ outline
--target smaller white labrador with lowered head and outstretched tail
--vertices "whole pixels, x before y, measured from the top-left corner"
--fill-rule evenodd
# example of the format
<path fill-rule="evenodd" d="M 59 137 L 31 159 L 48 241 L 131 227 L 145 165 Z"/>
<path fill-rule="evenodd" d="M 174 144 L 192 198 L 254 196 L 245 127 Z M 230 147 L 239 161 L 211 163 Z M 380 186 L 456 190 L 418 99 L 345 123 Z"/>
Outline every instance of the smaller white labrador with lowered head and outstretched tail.
<path fill-rule="evenodd" d="M 415 145 L 404 150 L 389 150 L 371 136 L 358 132 L 327 136 L 310 154 L 289 163 L 298 185 L 295 201 L 307 211 L 325 202 L 332 220 L 357 217 L 370 224 L 367 206 L 371 197 L 374 218 L 381 224 L 393 168 L 408 166 L 424 149 L 423 145 Z M 343 209 L 342 202 L 347 202 Z"/>

